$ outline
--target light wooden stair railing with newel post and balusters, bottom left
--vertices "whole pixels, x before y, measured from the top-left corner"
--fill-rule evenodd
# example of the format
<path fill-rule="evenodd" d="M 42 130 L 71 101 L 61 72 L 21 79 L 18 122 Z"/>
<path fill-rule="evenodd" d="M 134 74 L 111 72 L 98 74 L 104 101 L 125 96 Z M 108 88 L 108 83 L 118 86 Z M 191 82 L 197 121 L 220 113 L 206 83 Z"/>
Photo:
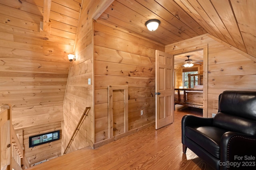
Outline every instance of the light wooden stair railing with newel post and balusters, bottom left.
<path fill-rule="evenodd" d="M 9 104 L 0 107 L 0 165 L 1 170 L 22 170 L 30 164 L 12 125 L 11 110 Z"/>

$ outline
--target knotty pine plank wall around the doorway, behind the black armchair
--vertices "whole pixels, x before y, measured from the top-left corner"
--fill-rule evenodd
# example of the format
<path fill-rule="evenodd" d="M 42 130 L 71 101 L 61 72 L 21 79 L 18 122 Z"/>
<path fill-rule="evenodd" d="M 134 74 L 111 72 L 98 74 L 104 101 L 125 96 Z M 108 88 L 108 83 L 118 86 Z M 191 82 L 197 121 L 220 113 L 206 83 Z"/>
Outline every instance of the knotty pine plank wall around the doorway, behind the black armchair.
<path fill-rule="evenodd" d="M 204 44 L 208 44 L 208 117 L 212 117 L 218 112 L 218 96 L 224 90 L 256 91 L 256 62 L 208 34 L 167 45 L 165 52 Z"/>

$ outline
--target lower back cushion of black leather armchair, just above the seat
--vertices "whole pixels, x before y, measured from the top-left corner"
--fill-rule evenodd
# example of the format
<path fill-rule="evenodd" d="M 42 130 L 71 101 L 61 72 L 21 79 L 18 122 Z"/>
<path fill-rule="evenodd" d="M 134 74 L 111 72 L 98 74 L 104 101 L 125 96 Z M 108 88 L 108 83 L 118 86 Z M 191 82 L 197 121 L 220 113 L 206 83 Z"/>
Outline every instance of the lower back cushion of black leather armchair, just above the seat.
<path fill-rule="evenodd" d="M 256 121 L 219 112 L 213 118 L 213 125 L 228 131 L 243 133 L 250 136 L 256 135 Z"/>

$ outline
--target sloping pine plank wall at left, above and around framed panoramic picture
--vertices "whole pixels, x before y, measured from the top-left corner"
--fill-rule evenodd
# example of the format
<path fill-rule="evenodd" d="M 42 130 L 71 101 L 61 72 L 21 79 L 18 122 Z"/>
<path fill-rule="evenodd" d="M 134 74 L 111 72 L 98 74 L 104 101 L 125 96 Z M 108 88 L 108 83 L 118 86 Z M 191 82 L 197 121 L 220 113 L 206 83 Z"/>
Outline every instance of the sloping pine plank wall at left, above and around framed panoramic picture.
<path fill-rule="evenodd" d="M 28 137 L 60 129 L 81 3 L 52 0 L 46 32 L 43 0 L 0 0 L 0 105 L 12 105 L 32 163 L 60 155 L 60 141 L 28 148 Z"/>

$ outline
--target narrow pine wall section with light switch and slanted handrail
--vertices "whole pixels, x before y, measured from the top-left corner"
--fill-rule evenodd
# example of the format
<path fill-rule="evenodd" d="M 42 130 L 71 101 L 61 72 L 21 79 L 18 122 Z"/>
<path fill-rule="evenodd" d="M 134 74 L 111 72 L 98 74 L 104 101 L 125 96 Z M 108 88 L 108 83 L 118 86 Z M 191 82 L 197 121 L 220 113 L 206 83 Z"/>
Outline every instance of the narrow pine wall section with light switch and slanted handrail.
<path fill-rule="evenodd" d="M 66 149 L 77 123 L 86 107 L 91 107 L 68 152 L 94 145 L 93 106 L 93 12 L 100 0 L 84 1 L 78 23 L 74 54 L 70 68 L 66 96 L 64 99 L 64 121 L 62 122 L 62 153 Z M 88 78 L 91 84 L 88 84 Z"/>

